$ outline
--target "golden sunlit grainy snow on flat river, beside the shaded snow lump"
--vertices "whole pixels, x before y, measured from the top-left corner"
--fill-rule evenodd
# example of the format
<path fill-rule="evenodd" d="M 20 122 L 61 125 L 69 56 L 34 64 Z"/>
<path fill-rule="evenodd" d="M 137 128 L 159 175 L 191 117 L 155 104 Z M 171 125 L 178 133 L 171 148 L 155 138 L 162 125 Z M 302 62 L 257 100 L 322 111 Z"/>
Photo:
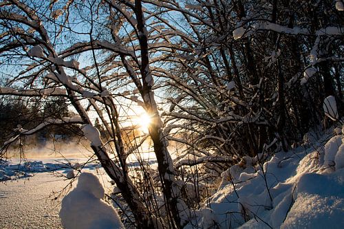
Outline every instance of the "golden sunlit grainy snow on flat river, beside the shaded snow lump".
<path fill-rule="evenodd" d="M 51 173 L 0 183 L 0 228 L 62 228 L 59 201 L 50 195 L 68 184 Z"/>

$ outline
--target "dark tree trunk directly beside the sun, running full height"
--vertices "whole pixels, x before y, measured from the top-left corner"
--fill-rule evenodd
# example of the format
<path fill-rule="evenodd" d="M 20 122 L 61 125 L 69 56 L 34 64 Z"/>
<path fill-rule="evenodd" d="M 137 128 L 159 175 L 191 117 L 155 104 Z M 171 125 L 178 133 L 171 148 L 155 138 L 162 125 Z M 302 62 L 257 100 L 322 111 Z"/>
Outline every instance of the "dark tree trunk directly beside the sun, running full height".
<path fill-rule="evenodd" d="M 135 6 L 136 19 L 138 21 L 138 40 L 140 42 L 141 52 L 140 74 L 142 76 L 142 98 L 144 100 L 147 113 L 152 117 L 152 123 L 149 127 L 149 135 L 153 141 L 154 153 L 158 161 L 160 182 L 162 183 L 162 190 L 166 201 L 166 212 L 174 221 L 171 221 L 169 225 L 172 228 L 182 228 L 182 219 L 180 217 L 180 210 L 178 210 L 178 204 L 180 204 L 180 188 L 175 184 L 173 161 L 169 151 L 167 150 L 167 141 L 162 133 L 162 120 L 160 118 L 152 90 L 153 79 L 149 69 L 147 29 L 144 25 L 141 1 L 136 0 Z"/>

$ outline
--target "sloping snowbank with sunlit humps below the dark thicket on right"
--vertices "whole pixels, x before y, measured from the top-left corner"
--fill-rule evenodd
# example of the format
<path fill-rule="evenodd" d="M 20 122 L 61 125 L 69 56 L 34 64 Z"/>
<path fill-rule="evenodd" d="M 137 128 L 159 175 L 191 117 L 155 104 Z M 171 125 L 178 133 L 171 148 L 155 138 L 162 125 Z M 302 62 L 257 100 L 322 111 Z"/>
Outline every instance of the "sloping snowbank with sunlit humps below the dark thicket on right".
<path fill-rule="evenodd" d="M 277 153 L 261 166 L 244 158 L 222 174 L 210 204 L 196 214 L 198 226 L 343 228 L 343 141 L 336 135 L 325 147 Z"/>

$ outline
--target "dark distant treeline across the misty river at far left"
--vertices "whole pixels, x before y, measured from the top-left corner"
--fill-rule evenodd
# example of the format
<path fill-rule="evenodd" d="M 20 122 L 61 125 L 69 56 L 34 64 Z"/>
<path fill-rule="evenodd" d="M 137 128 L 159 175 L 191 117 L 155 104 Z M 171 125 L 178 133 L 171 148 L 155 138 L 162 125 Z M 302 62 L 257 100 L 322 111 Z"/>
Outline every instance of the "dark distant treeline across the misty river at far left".
<path fill-rule="evenodd" d="M 33 129 L 47 118 L 61 119 L 74 115 L 75 113 L 69 111 L 67 102 L 61 98 L 34 98 L 28 101 L 3 96 L 0 99 L 0 144 L 20 131 Z M 30 141 L 43 143 L 47 140 L 71 140 L 76 137 L 80 138 L 80 129 L 76 125 L 52 125 L 30 136 Z"/>

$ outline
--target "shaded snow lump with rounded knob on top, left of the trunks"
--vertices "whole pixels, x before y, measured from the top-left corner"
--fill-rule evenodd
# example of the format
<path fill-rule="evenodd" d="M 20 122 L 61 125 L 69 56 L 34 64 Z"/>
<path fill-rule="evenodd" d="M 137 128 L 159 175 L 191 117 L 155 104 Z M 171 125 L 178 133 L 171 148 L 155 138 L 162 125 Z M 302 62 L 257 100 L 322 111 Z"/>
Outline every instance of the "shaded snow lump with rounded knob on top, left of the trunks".
<path fill-rule="evenodd" d="M 60 218 L 66 229 L 124 228 L 116 210 L 103 201 L 104 188 L 92 173 L 81 173 L 76 188 L 63 198 Z"/>

